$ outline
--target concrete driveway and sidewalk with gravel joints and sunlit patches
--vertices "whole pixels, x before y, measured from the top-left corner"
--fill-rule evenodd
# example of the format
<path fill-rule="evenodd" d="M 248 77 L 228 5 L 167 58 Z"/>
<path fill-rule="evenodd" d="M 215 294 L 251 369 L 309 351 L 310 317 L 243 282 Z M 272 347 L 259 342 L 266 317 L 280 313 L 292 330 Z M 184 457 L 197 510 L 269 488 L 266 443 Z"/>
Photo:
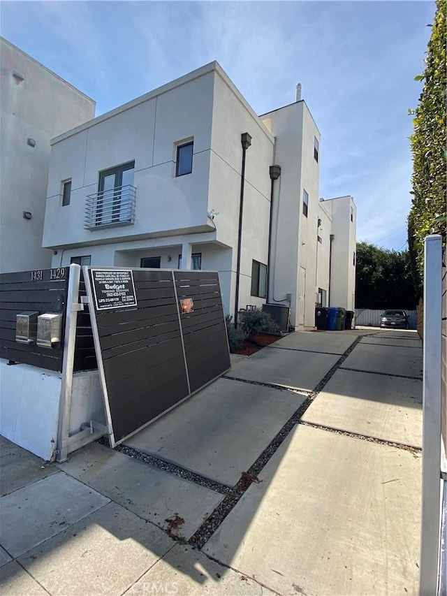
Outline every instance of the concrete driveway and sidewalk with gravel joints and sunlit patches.
<path fill-rule="evenodd" d="M 292 333 L 117 450 L 2 439 L 2 594 L 417 594 L 421 370 L 412 331 Z"/>

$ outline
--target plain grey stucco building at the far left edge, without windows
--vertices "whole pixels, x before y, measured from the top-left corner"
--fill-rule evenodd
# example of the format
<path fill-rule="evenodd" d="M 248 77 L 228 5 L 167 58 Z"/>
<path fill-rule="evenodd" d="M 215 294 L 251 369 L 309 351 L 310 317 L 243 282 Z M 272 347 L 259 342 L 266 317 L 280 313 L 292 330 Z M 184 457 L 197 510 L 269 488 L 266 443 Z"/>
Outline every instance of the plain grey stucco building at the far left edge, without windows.
<path fill-rule="evenodd" d="M 95 102 L 3 38 L 0 58 L 0 272 L 47 268 L 50 139 L 94 117 Z"/>

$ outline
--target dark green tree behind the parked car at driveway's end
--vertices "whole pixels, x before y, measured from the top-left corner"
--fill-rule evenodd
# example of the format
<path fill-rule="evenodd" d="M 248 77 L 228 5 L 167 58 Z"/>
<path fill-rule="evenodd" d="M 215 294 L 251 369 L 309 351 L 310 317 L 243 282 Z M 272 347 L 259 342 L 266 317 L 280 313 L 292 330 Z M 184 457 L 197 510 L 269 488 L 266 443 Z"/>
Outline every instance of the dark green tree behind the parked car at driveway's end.
<path fill-rule="evenodd" d="M 356 308 L 406 308 L 418 303 L 409 252 L 357 244 Z"/>

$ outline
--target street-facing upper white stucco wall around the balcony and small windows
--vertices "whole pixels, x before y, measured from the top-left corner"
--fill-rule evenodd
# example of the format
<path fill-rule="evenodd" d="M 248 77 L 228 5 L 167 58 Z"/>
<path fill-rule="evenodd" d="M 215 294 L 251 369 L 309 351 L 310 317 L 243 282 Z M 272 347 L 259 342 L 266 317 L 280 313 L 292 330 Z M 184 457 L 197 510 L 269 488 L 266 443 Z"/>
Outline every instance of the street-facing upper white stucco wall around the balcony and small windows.
<path fill-rule="evenodd" d="M 43 244 L 52 249 L 211 231 L 207 221 L 214 75 L 147 94 L 52 142 Z M 193 138 L 193 171 L 175 176 L 176 145 Z M 84 229 L 85 200 L 101 170 L 135 161 L 135 224 Z M 61 206 L 61 181 L 72 179 Z"/>

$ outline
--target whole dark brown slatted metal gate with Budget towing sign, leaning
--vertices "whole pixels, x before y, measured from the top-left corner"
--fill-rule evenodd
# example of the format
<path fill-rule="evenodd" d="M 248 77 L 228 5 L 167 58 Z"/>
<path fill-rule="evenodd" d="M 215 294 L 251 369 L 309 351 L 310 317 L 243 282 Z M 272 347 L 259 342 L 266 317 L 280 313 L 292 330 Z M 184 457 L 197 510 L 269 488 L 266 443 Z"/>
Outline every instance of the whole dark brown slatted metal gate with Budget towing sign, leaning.
<path fill-rule="evenodd" d="M 84 270 L 114 446 L 230 368 L 219 277 Z"/>

